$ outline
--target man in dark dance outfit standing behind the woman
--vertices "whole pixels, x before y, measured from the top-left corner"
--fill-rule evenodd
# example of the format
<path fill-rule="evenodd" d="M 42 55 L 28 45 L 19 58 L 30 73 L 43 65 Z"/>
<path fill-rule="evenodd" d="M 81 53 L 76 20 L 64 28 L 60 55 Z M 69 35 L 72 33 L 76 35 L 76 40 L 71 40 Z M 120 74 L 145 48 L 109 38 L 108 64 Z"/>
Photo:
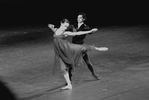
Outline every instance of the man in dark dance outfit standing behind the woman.
<path fill-rule="evenodd" d="M 84 23 L 84 21 L 86 20 L 86 15 L 84 13 L 79 13 L 78 17 L 77 17 L 77 24 L 74 24 L 73 27 L 73 31 L 87 31 L 90 28 Z M 72 38 L 72 43 L 74 44 L 83 44 L 84 43 L 84 39 L 86 37 L 85 35 L 76 35 Z M 87 53 L 83 56 L 83 59 L 85 61 L 85 63 L 88 66 L 88 69 L 91 71 L 92 75 L 99 80 L 100 77 L 98 75 L 95 74 L 94 69 L 92 67 L 92 63 L 89 61 L 89 57 L 87 55 Z M 69 76 L 70 76 L 70 80 L 72 77 L 72 73 L 71 73 L 72 69 L 71 67 L 69 68 Z"/>

